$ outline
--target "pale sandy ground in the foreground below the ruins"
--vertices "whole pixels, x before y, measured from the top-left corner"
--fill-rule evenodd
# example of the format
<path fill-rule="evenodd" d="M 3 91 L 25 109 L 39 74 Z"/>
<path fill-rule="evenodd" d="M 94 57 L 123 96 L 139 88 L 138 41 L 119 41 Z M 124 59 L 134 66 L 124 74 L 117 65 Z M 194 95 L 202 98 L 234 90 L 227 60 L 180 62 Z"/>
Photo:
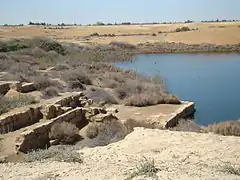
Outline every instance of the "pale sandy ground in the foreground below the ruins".
<path fill-rule="evenodd" d="M 240 179 L 222 171 L 227 163 L 240 168 L 239 137 L 135 128 L 119 142 L 79 152 L 83 153 L 82 164 L 0 164 L 0 177 L 4 180 L 121 180 L 134 172 L 146 157 L 155 160 L 159 172 L 152 177 L 133 179 Z"/>

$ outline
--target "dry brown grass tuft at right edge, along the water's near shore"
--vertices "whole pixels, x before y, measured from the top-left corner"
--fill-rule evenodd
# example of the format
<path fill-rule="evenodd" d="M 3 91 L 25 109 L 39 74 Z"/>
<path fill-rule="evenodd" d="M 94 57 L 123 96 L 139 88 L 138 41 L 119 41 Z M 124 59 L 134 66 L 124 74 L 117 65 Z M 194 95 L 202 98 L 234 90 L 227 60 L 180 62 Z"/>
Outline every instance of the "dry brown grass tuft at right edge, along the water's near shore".
<path fill-rule="evenodd" d="M 225 121 L 210 124 L 203 129 L 205 132 L 214 132 L 224 136 L 240 136 L 240 121 Z"/>

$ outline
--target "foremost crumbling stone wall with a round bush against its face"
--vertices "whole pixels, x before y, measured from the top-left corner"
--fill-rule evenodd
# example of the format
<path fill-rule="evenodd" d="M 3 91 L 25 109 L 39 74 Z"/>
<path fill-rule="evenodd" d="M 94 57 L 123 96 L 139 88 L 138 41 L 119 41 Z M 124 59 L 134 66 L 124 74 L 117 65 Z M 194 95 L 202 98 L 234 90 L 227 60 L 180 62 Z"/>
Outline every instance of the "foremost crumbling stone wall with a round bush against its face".
<path fill-rule="evenodd" d="M 21 133 L 20 136 L 16 139 L 16 151 L 27 153 L 32 150 L 49 147 L 49 132 L 55 123 L 71 122 L 73 124 L 76 124 L 77 127 L 81 129 L 88 123 L 85 116 L 86 112 L 87 110 L 85 108 L 78 107 L 56 118 L 53 118 L 48 122 L 41 124 L 29 131 Z"/>

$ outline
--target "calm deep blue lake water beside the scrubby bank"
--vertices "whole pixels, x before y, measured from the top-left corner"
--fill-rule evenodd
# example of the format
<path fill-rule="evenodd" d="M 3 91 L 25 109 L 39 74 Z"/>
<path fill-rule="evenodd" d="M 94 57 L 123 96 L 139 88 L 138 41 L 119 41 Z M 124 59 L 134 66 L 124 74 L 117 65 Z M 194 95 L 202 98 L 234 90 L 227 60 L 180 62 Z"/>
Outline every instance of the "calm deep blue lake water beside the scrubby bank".
<path fill-rule="evenodd" d="M 169 92 L 196 103 L 195 120 L 201 125 L 240 119 L 239 54 L 137 55 L 116 65 L 160 75 Z"/>

